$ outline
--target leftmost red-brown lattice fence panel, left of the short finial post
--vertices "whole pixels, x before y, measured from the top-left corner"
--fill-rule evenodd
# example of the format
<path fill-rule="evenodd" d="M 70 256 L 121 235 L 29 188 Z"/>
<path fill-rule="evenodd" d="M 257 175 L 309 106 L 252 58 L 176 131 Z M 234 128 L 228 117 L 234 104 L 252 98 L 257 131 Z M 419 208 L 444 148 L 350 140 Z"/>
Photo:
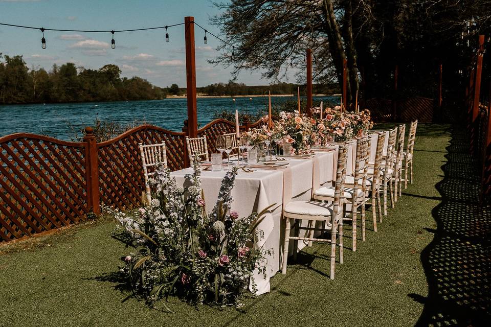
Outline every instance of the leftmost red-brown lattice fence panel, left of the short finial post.
<path fill-rule="evenodd" d="M 34 134 L 0 138 L 0 239 L 84 220 L 85 145 Z"/>

